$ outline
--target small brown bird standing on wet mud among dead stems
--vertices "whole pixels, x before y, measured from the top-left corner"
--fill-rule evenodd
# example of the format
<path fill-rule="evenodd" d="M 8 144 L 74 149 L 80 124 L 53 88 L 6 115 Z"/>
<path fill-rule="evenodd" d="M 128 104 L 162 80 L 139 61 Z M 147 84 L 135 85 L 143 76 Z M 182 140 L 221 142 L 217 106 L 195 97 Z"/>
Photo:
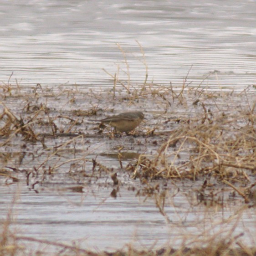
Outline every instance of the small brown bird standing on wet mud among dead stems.
<path fill-rule="evenodd" d="M 140 111 L 124 112 L 118 115 L 104 118 L 100 120 L 101 123 L 107 123 L 115 128 L 118 132 L 125 132 L 128 134 L 134 130 L 144 119 L 144 114 Z"/>

